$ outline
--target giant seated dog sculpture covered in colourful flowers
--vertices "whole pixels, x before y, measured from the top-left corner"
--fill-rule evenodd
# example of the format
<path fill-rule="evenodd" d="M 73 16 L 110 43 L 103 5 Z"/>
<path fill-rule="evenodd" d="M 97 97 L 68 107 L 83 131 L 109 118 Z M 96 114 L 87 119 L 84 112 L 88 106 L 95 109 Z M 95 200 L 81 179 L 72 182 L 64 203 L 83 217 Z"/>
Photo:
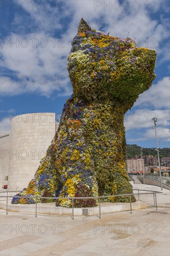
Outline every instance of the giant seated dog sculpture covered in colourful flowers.
<path fill-rule="evenodd" d="M 150 88 L 155 61 L 155 50 L 93 30 L 81 19 L 68 56 L 72 97 L 33 180 L 19 194 L 29 199 L 13 198 L 13 203 L 33 203 L 33 195 L 57 196 L 59 206 L 72 207 L 72 200 L 62 197 L 132 193 L 125 168 L 124 114 Z M 129 196 L 106 201 L 129 202 Z M 75 207 L 96 205 L 95 198 L 74 200 Z"/>

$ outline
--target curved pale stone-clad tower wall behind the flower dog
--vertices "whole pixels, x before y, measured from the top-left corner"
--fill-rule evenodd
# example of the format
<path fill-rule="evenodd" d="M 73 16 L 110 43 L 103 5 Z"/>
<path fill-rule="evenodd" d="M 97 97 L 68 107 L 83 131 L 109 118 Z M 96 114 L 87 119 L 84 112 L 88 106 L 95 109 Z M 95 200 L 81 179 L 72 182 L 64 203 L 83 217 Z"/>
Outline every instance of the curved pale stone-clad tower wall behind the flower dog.
<path fill-rule="evenodd" d="M 26 188 L 58 128 L 55 113 L 18 115 L 12 119 L 8 189 Z"/>

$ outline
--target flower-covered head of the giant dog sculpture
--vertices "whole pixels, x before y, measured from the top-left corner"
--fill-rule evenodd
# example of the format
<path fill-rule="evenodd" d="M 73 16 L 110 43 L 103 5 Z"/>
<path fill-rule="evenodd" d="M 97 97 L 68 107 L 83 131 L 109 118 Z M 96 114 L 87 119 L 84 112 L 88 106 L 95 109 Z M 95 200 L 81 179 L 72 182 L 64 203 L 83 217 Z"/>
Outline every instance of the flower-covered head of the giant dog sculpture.
<path fill-rule="evenodd" d="M 88 101 L 118 100 L 130 105 L 155 79 L 156 51 L 130 38 L 96 31 L 81 19 L 72 41 L 68 72 L 73 93 Z"/>

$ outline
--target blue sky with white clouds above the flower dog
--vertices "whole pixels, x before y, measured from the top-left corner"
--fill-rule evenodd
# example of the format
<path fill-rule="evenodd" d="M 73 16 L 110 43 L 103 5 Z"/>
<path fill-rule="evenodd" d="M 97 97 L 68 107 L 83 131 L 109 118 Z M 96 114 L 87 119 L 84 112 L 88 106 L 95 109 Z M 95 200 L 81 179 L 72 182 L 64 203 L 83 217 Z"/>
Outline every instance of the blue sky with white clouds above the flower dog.
<path fill-rule="evenodd" d="M 10 130 L 12 116 L 23 113 L 55 112 L 59 120 L 72 94 L 67 56 L 84 18 L 94 29 L 156 49 L 157 79 L 125 115 L 126 142 L 156 147 L 150 122 L 156 116 L 159 147 L 170 146 L 169 0 L 2 0 L 0 4 L 1 132 Z"/>

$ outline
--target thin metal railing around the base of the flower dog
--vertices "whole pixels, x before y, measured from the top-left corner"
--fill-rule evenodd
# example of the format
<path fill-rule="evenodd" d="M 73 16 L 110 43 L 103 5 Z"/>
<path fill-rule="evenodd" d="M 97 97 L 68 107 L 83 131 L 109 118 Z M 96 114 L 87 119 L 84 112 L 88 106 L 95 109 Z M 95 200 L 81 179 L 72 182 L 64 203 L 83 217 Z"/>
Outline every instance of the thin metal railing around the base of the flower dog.
<path fill-rule="evenodd" d="M 44 198 L 44 199 L 68 199 L 72 201 L 72 216 L 71 218 L 74 219 L 74 200 L 76 199 L 97 199 L 98 198 L 98 207 L 99 207 L 99 218 L 101 218 L 101 198 L 108 198 L 108 197 L 118 197 L 118 196 L 129 196 L 130 197 L 130 210 L 132 213 L 132 207 L 131 207 L 131 195 L 137 195 L 138 196 L 138 200 L 139 200 L 139 196 L 140 195 L 148 195 L 148 194 L 153 194 L 153 198 L 154 198 L 154 207 L 157 210 L 157 193 L 163 193 L 163 192 L 159 192 L 159 191 L 150 191 L 150 190 L 144 190 L 144 189 L 133 189 L 133 190 L 137 190 L 137 194 L 122 194 L 122 195 L 105 195 L 105 196 L 95 196 L 95 197 L 45 197 L 45 196 L 31 196 L 31 198 L 35 199 L 35 217 L 37 217 L 37 199 L 39 198 Z M 145 193 L 141 193 L 139 191 L 144 191 Z M 15 191 L 9 191 L 9 192 L 15 192 Z M 18 192 L 18 191 L 17 191 Z M 4 192 L 1 192 L 4 193 Z M 6 192 L 7 195 L 0 195 L 0 197 L 5 197 L 7 198 L 6 203 L 6 215 L 8 214 L 8 198 L 13 197 L 13 198 L 30 198 L 30 196 L 13 196 L 13 195 L 8 195 L 8 191 Z"/>

